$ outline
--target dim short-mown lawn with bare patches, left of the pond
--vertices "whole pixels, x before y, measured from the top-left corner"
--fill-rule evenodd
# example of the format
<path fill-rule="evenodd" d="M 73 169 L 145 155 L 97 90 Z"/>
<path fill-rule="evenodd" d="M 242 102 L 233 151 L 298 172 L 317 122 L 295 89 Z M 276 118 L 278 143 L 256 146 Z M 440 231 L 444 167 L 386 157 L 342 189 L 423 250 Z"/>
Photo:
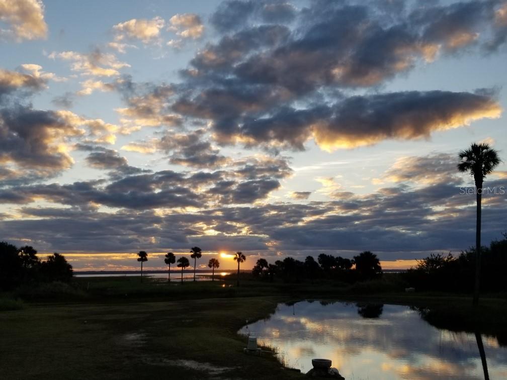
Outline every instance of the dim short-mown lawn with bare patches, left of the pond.
<path fill-rule="evenodd" d="M 32 305 L 0 313 L 5 378 L 296 378 L 236 332 L 276 299 Z"/>

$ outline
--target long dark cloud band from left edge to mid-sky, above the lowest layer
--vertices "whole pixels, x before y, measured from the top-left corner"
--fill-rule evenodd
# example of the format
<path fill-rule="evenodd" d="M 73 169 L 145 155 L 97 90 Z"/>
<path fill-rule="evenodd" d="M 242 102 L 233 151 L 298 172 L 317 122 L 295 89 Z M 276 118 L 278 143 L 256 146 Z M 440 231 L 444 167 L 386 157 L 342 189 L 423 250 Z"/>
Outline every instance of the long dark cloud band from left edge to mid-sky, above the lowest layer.
<path fill-rule="evenodd" d="M 86 144 L 76 147 L 90 151 L 86 162 L 94 168 L 110 170 L 110 177 L 64 185 L 20 186 L 16 191 L 5 188 L 0 191 L 0 202 L 28 204 L 44 199 L 81 208 L 104 205 L 137 210 L 233 205 L 265 199 L 280 187 L 280 178 L 292 173 L 282 158 L 244 159 L 227 170 L 214 172 L 151 173 L 129 166 L 114 150 Z"/>

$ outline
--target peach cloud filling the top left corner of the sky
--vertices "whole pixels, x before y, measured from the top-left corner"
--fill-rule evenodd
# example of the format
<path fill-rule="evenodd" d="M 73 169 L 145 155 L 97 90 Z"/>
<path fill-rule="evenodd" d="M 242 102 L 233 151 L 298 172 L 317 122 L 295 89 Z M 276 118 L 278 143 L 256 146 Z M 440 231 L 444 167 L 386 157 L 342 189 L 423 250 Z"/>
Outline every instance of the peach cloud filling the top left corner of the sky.
<path fill-rule="evenodd" d="M 18 42 L 45 39 L 48 33 L 44 5 L 39 0 L 0 0 L 0 21 L 9 25 L 0 29 L 0 36 Z"/>

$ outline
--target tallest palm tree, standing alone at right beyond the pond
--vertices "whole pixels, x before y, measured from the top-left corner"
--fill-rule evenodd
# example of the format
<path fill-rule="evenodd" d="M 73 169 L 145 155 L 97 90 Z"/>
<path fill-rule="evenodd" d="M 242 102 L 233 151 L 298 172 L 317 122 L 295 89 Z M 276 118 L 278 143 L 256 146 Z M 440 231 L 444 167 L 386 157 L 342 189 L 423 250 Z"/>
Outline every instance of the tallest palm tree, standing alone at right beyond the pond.
<path fill-rule="evenodd" d="M 466 150 L 458 154 L 460 162 L 457 167 L 461 173 L 470 173 L 474 177 L 477 199 L 477 220 L 476 220 L 476 273 L 474 286 L 474 306 L 479 305 L 479 287 L 481 280 L 481 202 L 482 184 L 486 175 L 500 164 L 498 153 L 487 143 L 473 143 Z"/>

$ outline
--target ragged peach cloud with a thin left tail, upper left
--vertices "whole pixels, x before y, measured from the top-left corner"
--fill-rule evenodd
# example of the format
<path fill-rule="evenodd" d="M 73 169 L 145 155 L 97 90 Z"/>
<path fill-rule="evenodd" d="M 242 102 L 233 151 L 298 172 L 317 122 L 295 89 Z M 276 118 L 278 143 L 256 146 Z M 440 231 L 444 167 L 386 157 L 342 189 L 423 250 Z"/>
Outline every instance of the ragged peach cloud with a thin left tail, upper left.
<path fill-rule="evenodd" d="M 130 67 L 128 63 L 119 61 L 114 54 L 103 53 L 100 49 L 95 49 L 88 54 L 74 51 L 52 52 L 48 55 L 48 58 L 71 61 L 70 69 L 72 71 L 97 77 L 116 77 L 120 75 L 119 69 Z"/>

